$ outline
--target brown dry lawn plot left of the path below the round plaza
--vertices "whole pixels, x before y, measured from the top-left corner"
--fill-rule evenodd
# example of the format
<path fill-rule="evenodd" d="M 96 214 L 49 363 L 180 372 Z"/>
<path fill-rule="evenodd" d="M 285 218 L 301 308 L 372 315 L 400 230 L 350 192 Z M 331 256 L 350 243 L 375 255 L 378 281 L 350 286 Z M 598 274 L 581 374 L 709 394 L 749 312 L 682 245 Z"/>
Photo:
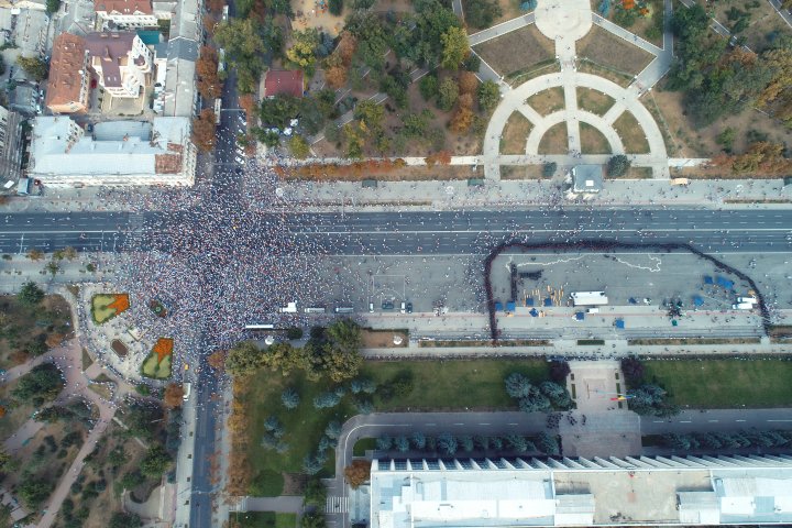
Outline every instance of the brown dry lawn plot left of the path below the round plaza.
<path fill-rule="evenodd" d="M 475 46 L 473 51 L 504 76 L 529 72 L 540 63 L 556 58 L 553 42 L 542 35 L 536 24 L 491 38 Z"/>

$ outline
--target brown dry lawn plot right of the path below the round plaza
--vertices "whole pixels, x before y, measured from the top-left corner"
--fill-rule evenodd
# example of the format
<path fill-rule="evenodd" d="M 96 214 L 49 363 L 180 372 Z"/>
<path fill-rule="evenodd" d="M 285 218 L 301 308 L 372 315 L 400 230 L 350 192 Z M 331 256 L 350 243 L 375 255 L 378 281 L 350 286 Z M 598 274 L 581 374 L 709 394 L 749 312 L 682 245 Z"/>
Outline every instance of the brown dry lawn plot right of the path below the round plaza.
<path fill-rule="evenodd" d="M 596 25 L 592 26 L 586 36 L 578 41 L 576 46 L 579 57 L 630 77 L 638 75 L 654 58 L 651 53 Z"/>

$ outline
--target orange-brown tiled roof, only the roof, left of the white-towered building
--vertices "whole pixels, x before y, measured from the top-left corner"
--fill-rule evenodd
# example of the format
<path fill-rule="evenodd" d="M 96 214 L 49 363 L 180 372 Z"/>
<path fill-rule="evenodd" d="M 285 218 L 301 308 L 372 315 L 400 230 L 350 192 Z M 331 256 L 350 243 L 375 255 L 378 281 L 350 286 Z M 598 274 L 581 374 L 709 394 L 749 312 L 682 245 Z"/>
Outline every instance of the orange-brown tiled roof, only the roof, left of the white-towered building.
<path fill-rule="evenodd" d="M 53 44 L 46 105 L 79 101 L 86 43 L 80 36 L 61 33 Z"/>

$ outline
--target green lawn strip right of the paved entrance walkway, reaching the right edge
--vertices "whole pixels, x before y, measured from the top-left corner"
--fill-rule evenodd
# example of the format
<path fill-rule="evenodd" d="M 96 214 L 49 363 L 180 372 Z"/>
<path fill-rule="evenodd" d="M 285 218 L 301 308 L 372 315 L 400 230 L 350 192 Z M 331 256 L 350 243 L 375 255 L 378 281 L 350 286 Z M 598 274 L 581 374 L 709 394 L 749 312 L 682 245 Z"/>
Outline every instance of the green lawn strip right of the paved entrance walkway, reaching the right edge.
<path fill-rule="evenodd" d="M 646 361 L 645 380 L 657 380 L 679 405 L 703 408 L 792 405 L 792 362 Z"/>

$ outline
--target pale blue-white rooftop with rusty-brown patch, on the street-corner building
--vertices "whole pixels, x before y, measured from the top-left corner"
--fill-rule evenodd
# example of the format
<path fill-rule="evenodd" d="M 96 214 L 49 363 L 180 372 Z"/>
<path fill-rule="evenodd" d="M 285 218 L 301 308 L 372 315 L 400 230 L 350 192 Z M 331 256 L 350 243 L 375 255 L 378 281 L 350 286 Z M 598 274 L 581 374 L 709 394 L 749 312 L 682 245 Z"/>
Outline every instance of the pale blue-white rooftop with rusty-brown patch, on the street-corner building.
<path fill-rule="evenodd" d="M 92 136 L 81 131 L 75 135 L 74 130 L 66 117 L 36 118 L 30 172 L 87 176 L 177 173 L 182 145 L 189 141 L 187 118 L 97 123 Z"/>

